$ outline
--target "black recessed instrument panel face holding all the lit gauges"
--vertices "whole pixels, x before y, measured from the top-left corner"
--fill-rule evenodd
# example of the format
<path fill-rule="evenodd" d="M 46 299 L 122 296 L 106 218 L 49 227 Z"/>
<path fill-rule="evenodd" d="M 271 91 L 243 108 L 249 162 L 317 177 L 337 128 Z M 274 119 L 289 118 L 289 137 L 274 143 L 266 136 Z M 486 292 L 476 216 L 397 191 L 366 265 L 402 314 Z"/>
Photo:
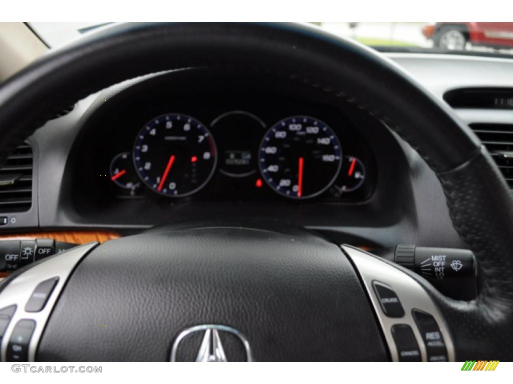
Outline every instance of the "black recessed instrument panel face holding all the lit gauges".
<path fill-rule="evenodd" d="M 371 196 L 374 157 L 359 122 L 343 111 L 288 89 L 217 78 L 220 85 L 199 90 L 180 79 L 171 91 L 165 82 L 143 82 L 88 116 L 77 150 L 78 199 L 98 189 L 106 204 Z M 93 167 L 82 161 L 91 154 Z"/>

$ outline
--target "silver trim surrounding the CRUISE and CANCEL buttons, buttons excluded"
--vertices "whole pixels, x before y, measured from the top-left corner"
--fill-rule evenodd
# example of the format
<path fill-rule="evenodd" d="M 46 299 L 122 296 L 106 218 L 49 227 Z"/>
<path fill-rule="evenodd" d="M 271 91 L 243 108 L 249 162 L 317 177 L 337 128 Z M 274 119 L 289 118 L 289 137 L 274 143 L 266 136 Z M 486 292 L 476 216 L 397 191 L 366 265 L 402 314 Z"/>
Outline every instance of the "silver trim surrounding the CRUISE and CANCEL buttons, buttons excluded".
<path fill-rule="evenodd" d="M 342 249 L 356 266 L 357 272 L 365 285 L 367 294 L 372 302 L 372 307 L 376 312 L 381 329 L 385 335 L 385 340 L 388 345 L 392 361 L 399 361 L 396 344 L 393 341 L 391 332 L 392 326 L 396 324 L 407 324 L 411 327 L 415 334 L 415 338 L 417 339 L 417 343 L 419 344 L 422 361 L 427 361 L 427 352 L 424 340 L 422 339 L 419 329 L 417 328 L 417 324 L 415 323 L 415 319 L 411 314 L 411 310 L 414 308 L 427 312 L 435 318 L 445 341 L 448 360 L 455 361 L 454 346 L 452 345 L 452 339 L 445 321 L 438 311 L 438 308 L 435 306 L 435 303 L 433 303 L 427 292 L 419 283 L 410 278 L 406 273 L 401 272 L 398 268 L 395 268 L 358 248 L 343 245 Z M 403 317 L 392 318 L 385 315 L 381 309 L 379 298 L 372 289 L 373 281 L 385 283 L 396 291 L 404 308 L 405 314 Z"/>

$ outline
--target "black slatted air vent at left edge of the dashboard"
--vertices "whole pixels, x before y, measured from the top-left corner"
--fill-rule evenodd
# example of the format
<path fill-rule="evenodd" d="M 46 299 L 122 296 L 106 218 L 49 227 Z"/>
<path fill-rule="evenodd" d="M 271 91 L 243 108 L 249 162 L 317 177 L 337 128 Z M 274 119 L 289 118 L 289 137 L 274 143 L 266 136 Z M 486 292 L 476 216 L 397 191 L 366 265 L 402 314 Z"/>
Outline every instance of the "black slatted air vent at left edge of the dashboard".
<path fill-rule="evenodd" d="M 32 205 L 32 148 L 24 143 L 0 167 L 0 212 L 25 212 Z"/>

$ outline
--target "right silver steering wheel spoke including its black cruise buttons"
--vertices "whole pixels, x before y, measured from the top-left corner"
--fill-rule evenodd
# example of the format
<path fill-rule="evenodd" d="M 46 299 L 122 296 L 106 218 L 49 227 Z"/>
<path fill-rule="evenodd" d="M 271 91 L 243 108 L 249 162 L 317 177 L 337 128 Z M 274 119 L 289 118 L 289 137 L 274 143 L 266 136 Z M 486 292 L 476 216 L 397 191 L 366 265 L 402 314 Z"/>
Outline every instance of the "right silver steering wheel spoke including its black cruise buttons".
<path fill-rule="evenodd" d="M 361 249 L 342 245 L 342 250 L 365 286 L 392 361 L 455 361 L 445 321 L 415 279 Z M 411 333 L 415 340 L 405 340 Z"/>

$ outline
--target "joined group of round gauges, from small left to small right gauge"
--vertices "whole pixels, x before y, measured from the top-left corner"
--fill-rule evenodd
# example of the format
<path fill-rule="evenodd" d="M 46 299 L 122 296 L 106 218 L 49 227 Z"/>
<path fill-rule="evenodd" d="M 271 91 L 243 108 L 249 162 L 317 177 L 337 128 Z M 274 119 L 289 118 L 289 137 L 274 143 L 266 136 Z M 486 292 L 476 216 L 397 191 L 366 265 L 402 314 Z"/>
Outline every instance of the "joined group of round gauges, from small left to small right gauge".
<path fill-rule="evenodd" d="M 250 112 L 230 111 L 207 125 L 166 113 L 143 124 L 129 151 L 112 157 L 109 178 L 120 195 L 131 196 L 144 190 L 167 198 L 191 196 L 216 172 L 227 189 L 228 180 L 247 179 L 254 188 L 295 200 L 325 193 L 336 199 L 362 196 L 356 193 L 365 183 L 368 159 L 350 147 L 344 151 L 344 139 L 313 116 L 287 116 L 267 126 Z"/>

